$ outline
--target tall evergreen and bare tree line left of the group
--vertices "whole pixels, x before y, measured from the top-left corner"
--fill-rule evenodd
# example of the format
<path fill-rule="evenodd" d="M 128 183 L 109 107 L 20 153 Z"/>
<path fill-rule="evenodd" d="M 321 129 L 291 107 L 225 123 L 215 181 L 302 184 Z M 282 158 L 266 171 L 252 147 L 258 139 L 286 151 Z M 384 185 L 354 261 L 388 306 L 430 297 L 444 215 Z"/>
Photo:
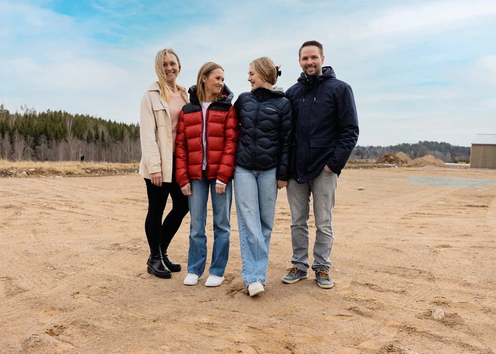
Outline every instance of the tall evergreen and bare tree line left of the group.
<path fill-rule="evenodd" d="M 0 158 L 10 161 L 139 162 L 139 124 L 118 123 L 64 111 L 37 113 L 0 105 Z"/>

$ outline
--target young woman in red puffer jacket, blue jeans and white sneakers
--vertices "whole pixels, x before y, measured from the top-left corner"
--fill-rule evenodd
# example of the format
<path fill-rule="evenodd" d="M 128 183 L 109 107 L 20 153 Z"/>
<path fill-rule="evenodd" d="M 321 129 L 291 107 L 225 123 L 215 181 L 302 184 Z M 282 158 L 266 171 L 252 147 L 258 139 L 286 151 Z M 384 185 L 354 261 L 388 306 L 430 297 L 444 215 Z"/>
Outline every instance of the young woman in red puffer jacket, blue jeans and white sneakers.
<path fill-rule="evenodd" d="M 224 281 L 231 236 L 232 176 L 238 140 L 233 93 L 224 85 L 224 69 L 207 62 L 198 71 L 196 86 L 179 114 L 176 135 L 176 179 L 188 196 L 191 216 L 185 285 L 201 279 L 207 259 L 208 191 L 212 198 L 214 245 L 205 286 Z"/>

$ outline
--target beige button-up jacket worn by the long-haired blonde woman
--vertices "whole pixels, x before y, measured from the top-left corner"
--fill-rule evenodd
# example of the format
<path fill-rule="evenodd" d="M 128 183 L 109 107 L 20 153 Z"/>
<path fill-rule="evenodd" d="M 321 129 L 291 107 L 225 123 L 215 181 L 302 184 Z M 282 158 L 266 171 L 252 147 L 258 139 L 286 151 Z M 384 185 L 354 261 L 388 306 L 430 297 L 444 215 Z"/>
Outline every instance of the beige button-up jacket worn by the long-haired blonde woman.
<path fill-rule="evenodd" d="M 178 85 L 185 99 L 189 102 L 186 89 Z M 146 90 L 141 99 L 139 112 L 139 135 L 141 140 L 141 162 L 139 173 L 150 179 L 150 174 L 162 172 L 164 182 L 172 182 L 172 123 L 169 105 L 160 96 L 158 82 Z"/>

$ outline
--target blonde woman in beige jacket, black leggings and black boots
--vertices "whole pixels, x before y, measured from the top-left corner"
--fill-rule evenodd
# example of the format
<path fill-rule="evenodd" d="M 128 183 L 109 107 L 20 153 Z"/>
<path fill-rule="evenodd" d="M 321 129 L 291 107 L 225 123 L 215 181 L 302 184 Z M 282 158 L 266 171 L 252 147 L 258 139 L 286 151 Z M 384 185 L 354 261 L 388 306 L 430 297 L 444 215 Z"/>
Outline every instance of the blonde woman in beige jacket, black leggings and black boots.
<path fill-rule="evenodd" d="M 148 194 L 145 233 L 150 257 L 147 265 L 148 273 L 159 278 L 171 278 L 171 272 L 181 271 L 181 264 L 169 258 L 168 248 L 189 211 L 187 196 L 181 191 L 174 173 L 179 113 L 189 102 L 185 88 L 176 84 L 180 71 L 181 62 L 172 49 L 157 53 L 155 72 L 158 81 L 148 86 L 141 99 L 139 114 L 139 173 L 145 179 Z M 162 223 L 169 195 L 172 210 Z"/>

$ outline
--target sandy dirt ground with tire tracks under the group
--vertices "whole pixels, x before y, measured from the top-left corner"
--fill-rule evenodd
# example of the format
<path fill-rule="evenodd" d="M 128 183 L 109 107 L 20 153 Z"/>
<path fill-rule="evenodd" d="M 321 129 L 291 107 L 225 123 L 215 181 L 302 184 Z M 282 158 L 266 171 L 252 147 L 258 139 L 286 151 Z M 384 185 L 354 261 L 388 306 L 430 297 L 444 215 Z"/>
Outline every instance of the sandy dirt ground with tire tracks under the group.
<path fill-rule="evenodd" d="M 183 285 L 189 215 L 169 251 L 183 271 L 147 274 L 146 209 L 138 175 L 1 178 L 0 353 L 496 353 L 496 171 L 345 170 L 329 290 L 281 282 L 284 190 L 253 298 L 234 203 L 218 288 Z M 207 233 L 211 250 L 211 208 Z"/>

